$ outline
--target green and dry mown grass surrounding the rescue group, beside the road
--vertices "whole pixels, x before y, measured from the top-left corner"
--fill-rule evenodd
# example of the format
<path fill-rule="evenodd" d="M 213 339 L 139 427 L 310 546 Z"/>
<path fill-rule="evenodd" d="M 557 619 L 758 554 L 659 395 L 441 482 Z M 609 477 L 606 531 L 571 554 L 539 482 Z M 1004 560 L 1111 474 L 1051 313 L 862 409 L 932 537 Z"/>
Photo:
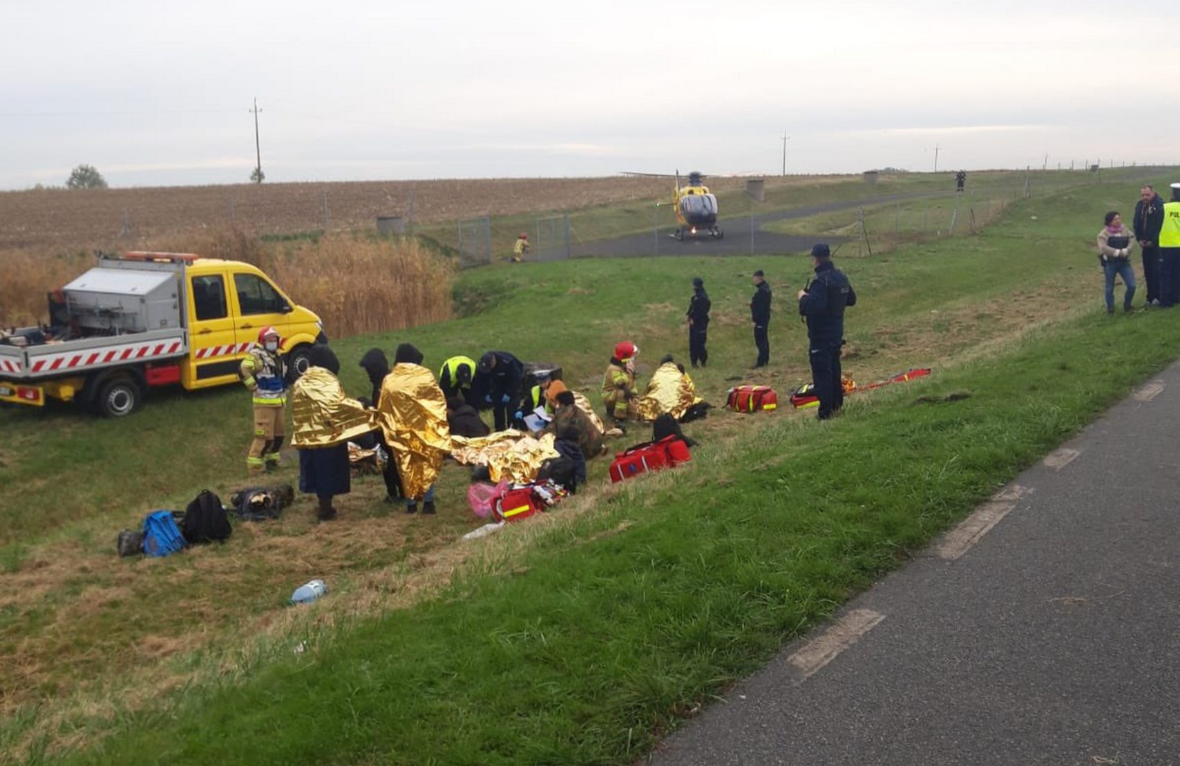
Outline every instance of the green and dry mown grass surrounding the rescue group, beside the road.
<path fill-rule="evenodd" d="M 35 753 L 41 741 L 88 746 L 79 759 L 90 762 L 628 762 L 1171 359 L 1171 316 L 1077 308 L 1100 306 L 1090 249 L 1101 215 L 1135 191 L 1024 201 L 978 236 L 844 260 L 861 295 L 845 369 L 866 382 L 933 366 L 933 380 L 853 398 L 826 427 L 717 413 L 689 428 L 704 443 L 690 466 L 614 492 L 596 461 L 596 485 L 568 510 L 478 548 L 453 545 L 477 522 L 461 508 L 463 472 L 448 469 L 437 519 L 391 513 L 369 479 L 328 530 L 304 503 L 224 548 L 118 561 L 119 526 L 240 483 L 248 399 L 178 393 L 123 421 L 5 410 L 0 490 L 22 502 L 6 508 L 0 564 L 32 590 L 0 602 L 0 648 L 41 667 L 7 675 L 5 694 L 28 702 L 0 727 L 0 751 Z M 752 361 L 746 305 L 759 267 L 778 308 L 762 379 L 785 394 L 806 375 L 788 308 L 808 273 L 799 257 L 478 269 L 455 288 L 478 313 L 334 346 L 353 393 L 367 389 L 361 353 L 402 340 L 432 366 L 492 347 L 558 361 L 589 391 L 622 338 L 643 349 L 641 377 L 664 352 L 683 355 L 689 280 L 701 275 L 715 319 L 712 364 L 695 378 L 719 402 Z M 912 404 L 950 391 L 972 395 Z M 452 569 L 432 569 L 432 556 L 464 550 L 486 556 L 459 556 L 453 582 Z M 333 585 L 324 616 L 398 583 L 433 578 L 444 591 L 335 628 L 281 615 L 315 575 Z M 175 652 L 143 649 L 166 641 Z M 301 641 L 310 649 L 294 655 Z M 137 668 L 148 675 L 126 695 L 122 674 Z M 191 686 L 152 699 L 142 687 L 160 677 Z M 99 709 L 63 701 L 78 685 Z"/>

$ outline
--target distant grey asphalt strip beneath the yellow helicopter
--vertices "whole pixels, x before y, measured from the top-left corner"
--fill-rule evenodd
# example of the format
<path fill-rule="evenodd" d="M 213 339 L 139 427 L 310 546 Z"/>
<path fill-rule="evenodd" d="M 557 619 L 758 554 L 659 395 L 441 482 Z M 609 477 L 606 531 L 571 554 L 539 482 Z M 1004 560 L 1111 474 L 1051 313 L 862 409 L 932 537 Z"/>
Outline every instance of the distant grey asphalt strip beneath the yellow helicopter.
<path fill-rule="evenodd" d="M 720 240 L 701 236 L 686 237 L 677 242 L 669 236 L 675 227 L 671 223 L 671 209 L 661 215 L 668 221 L 660 228 L 658 236 L 655 233 L 628 235 L 615 240 L 595 240 L 592 242 L 573 243 L 571 255 L 573 257 L 627 257 L 627 256 L 650 256 L 650 255 L 749 255 L 749 254 L 786 254 L 786 253 L 809 253 L 811 247 L 817 242 L 827 242 L 837 245 L 843 242 L 840 237 L 820 235 L 789 235 L 766 231 L 762 227 L 773 221 L 788 221 L 792 218 L 805 218 L 820 212 L 834 210 L 854 210 L 860 207 L 878 205 L 883 203 L 913 199 L 923 196 L 939 196 L 929 194 L 897 194 L 864 199 L 852 199 L 844 202 L 832 202 L 820 205 L 808 205 L 806 208 L 794 208 L 791 210 L 775 210 L 763 212 L 753 217 L 753 236 L 750 234 L 750 218 L 723 218 L 720 227 L 725 236 Z M 870 235 L 872 233 L 870 231 Z M 871 241 L 871 240 L 870 240 Z M 531 261 L 557 261 L 565 257 L 564 249 L 543 249 L 530 256 Z"/>

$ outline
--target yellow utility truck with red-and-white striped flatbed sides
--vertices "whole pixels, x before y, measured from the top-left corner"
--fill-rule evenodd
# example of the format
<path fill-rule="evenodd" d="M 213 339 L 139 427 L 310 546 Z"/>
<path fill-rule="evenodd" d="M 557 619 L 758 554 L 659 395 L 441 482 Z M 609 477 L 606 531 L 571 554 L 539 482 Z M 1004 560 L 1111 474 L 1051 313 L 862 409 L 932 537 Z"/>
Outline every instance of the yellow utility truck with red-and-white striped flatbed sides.
<path fill-rule="evenodd" d="M 293 377 L 323 323 L 258 268 L 181 253 L 100 255 L 48 295 L 47 325 L 0 328 L 0 402 L 77 401 L 130 414 L 156 386 L 237 382 L 258 330 L 283 338 Z"/>

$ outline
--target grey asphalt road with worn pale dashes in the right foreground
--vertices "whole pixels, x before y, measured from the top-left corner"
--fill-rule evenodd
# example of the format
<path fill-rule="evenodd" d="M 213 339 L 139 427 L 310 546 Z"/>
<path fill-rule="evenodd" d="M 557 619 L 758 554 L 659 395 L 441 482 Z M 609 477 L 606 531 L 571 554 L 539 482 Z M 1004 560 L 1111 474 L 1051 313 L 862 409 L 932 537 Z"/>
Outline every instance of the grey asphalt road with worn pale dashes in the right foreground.
<path fill-rule="evenodd" d="M 1178 432 L 1174 365 L 649 762 L 1180 764 Z"/>

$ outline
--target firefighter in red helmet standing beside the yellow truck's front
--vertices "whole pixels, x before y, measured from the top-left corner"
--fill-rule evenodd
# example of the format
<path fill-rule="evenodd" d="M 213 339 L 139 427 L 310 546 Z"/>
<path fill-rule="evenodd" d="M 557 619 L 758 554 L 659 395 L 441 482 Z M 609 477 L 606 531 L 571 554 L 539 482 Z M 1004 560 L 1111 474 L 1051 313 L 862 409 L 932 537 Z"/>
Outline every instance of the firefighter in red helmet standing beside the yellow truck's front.
<path fill-rule="evenodd" d="M 258 342 L 242 360 L 238 375 L 254 398 L 254 441 L 245 458 L 251 476 L 278 467 L 287 405 L 287 365 L 278 354 L 282 338 L 274 327 L 258 330 Z"/>

